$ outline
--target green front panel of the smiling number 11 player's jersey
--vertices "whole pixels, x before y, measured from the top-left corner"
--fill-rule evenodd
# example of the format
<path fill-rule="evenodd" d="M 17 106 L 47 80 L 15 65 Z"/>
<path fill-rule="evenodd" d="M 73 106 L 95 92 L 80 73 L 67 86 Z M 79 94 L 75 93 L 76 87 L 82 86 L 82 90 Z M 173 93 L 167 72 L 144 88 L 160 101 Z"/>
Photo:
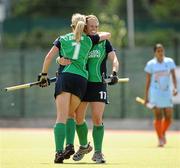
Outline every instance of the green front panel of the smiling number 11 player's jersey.
<path fill-rule="evenodd" d="M 88 56 L 88 72 L 90 82 L 102 82 L 101 64 L 106 57 L 106 41 L 102 41 L 91 49 Z"/>

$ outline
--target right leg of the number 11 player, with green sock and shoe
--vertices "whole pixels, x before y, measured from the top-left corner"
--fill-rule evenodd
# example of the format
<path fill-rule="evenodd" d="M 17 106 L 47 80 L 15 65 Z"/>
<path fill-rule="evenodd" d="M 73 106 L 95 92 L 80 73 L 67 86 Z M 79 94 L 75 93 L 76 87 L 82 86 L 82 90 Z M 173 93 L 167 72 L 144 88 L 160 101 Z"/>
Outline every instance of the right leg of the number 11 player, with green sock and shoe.
<path fill-rule="evenodd" d="M 104 102 L 91 102 L 92 108 L 92 120 L 93 120 L 93 141 L 94 141 L 94 155 L 92 160 L 96 163 L 105 163 L 104 156 L 102 154 L 102 144 L 104 138 L 104 125 L 103 125 L 103 113 L 105 108 Z"/>

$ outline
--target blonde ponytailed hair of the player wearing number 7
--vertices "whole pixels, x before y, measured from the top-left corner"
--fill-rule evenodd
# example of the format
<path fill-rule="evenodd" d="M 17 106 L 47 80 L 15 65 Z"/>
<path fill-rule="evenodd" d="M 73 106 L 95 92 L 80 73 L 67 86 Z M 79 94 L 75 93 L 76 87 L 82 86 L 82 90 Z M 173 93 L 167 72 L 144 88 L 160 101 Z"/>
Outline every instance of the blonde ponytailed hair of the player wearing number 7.
<path fill-rule="evenodd" d="M 79 13 L 73 14 L 71 23 L 71 27 L 73 28 L 73 32 L 75 35 L 75 40 L 76 42 L 79 42 L 86 25 L 86 17 L 85 15 L 81 15 Z"/>

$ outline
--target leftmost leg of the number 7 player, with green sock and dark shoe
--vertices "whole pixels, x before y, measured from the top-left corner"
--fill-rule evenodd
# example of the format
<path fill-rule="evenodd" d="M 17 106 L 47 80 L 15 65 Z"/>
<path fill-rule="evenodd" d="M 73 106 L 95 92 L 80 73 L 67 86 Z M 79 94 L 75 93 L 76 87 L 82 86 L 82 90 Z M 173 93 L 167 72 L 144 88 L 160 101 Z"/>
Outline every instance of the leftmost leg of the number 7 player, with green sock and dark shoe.
<path fill-rule="evenodd" d="M 56 146 L 55 163 L 63 163 L 63 149 L 66 134 L 66 120 L 69 112 L 70 93 L 63 92 L 56 97 L 57 118 L 54 126 Z"/>

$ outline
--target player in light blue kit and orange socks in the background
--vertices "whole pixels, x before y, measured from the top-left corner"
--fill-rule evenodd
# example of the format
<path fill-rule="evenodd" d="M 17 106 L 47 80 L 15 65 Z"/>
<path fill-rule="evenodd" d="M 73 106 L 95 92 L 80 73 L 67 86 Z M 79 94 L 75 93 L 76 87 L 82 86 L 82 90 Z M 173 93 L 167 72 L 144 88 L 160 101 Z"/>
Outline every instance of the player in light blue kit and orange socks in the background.
<path fill-rule="evenodd" d="M 158 136 L 158 146 L 166 144 L 166 131 L 172 122 L 172 95 L 177 95 L 177 81 L 175 63 L 172 58 L 164 55 L 162 44 L 154 46 L 154 58 L 147 62 L 145 67 L 146 86 L 145 103 L 155 105 L 154 127 Z M 172 76 L 173 93 L 171 92 Z"/>

